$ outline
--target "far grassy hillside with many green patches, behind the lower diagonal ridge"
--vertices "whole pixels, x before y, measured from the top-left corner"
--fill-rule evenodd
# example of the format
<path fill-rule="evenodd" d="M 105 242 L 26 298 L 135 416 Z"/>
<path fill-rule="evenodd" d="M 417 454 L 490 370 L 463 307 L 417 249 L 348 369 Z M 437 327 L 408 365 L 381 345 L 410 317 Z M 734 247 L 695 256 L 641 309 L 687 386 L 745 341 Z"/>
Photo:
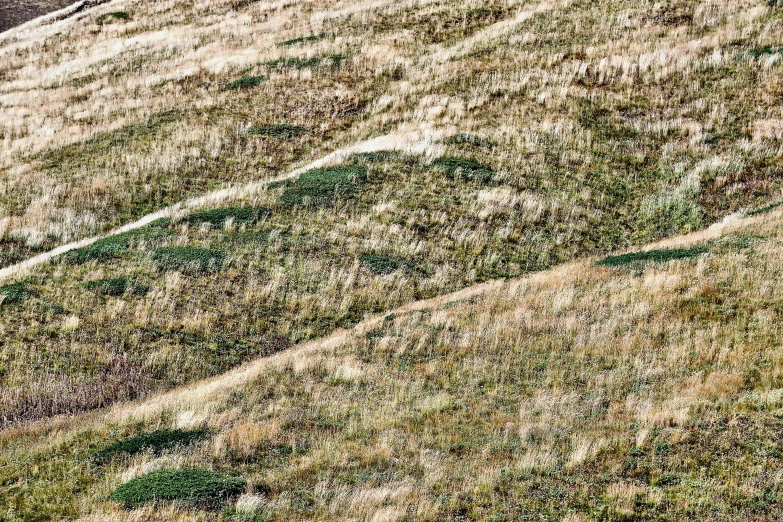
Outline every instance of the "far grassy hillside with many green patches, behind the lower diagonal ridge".
<path fill-rule="evenodd" d="M 120 1 L 8 32 L 4 425 L 776 201 L 782 16 Z"/>

